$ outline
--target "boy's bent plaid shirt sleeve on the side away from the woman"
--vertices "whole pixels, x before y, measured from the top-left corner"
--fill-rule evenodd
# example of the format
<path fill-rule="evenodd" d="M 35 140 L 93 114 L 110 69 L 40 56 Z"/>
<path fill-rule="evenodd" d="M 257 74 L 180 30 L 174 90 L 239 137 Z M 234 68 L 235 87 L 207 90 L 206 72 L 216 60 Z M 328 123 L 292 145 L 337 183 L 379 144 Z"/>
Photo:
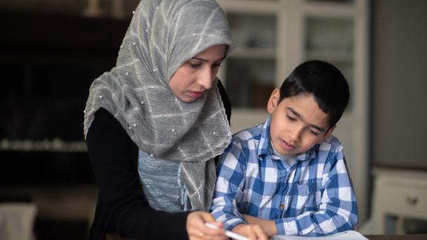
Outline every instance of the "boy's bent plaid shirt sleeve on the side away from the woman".
<path fill-rule="evenodd" d="M 324 236 L 354 229 L 357 204 L 348 175 L 343 147 L 329 154 L 322 171 L 321 202 L 317 211 L 275 220 L 278 234 Z"/>

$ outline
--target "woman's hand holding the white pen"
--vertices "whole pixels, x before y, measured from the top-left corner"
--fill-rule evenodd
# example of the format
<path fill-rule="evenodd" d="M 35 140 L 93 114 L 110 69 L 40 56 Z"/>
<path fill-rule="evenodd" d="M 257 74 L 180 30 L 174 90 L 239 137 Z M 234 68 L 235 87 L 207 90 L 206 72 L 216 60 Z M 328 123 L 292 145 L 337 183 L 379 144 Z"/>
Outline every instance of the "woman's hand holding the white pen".
<path fill-rule="evenodd" d="M 204 225 L 205 222 L 209 222 L 216 225 L 218 229 L 211 229 Z M 225 236 L 222 222 L 216 222 L 211 214 L 204 211 L 194 211 L 187 216 L 187 233 L 190 240 L 225 240 L 228 236 Z"/>

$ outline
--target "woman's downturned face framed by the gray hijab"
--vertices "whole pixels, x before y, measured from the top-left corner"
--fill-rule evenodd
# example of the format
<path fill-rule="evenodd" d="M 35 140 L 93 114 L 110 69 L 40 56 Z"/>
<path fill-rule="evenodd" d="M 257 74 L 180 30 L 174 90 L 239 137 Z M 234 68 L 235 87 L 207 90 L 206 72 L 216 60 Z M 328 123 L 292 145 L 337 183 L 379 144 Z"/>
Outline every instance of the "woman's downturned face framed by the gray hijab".
<path fill-rule="evenodd" d="M 225 58 L 225 45 L 206 48 L 176 70 L 169 80 L 173 94 L 183 102 L 193 102 L 212 87 Z"/>

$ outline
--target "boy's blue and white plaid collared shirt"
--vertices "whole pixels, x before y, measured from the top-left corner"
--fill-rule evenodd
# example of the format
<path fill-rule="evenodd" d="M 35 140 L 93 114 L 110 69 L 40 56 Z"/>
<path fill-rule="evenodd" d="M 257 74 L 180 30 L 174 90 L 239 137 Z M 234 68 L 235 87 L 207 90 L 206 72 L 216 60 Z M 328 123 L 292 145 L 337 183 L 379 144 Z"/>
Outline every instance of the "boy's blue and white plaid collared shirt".
<path fill-rule="evenodd" d="M 331 135 L 289 165 L 272 150 L 270 119 L 233 135 L 218 166 L 211 213 L 229 230 L 246 223 L 242 214 L 275 220 L 283 235 L 354 229 L 357 204 L 341 142 Z"/>

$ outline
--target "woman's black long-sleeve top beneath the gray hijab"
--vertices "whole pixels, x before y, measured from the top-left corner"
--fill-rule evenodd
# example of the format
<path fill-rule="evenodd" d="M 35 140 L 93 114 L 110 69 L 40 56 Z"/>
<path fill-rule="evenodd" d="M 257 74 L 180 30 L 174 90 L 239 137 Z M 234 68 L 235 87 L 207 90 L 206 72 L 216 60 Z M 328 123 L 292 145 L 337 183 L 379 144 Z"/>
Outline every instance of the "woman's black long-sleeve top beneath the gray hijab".
<path fill-rule="evenodd" d="M 218 88 L 230 121 L 230 102 L 220 81 Z M 107 110 L 95 113 L 86 145 L 99 187 L 89 239 L 105 239 L 106 233 L 127 239 L 188 239 L 190 212 L 166 213 L 148 205 L 138 175 L 138 147 Z"/>

